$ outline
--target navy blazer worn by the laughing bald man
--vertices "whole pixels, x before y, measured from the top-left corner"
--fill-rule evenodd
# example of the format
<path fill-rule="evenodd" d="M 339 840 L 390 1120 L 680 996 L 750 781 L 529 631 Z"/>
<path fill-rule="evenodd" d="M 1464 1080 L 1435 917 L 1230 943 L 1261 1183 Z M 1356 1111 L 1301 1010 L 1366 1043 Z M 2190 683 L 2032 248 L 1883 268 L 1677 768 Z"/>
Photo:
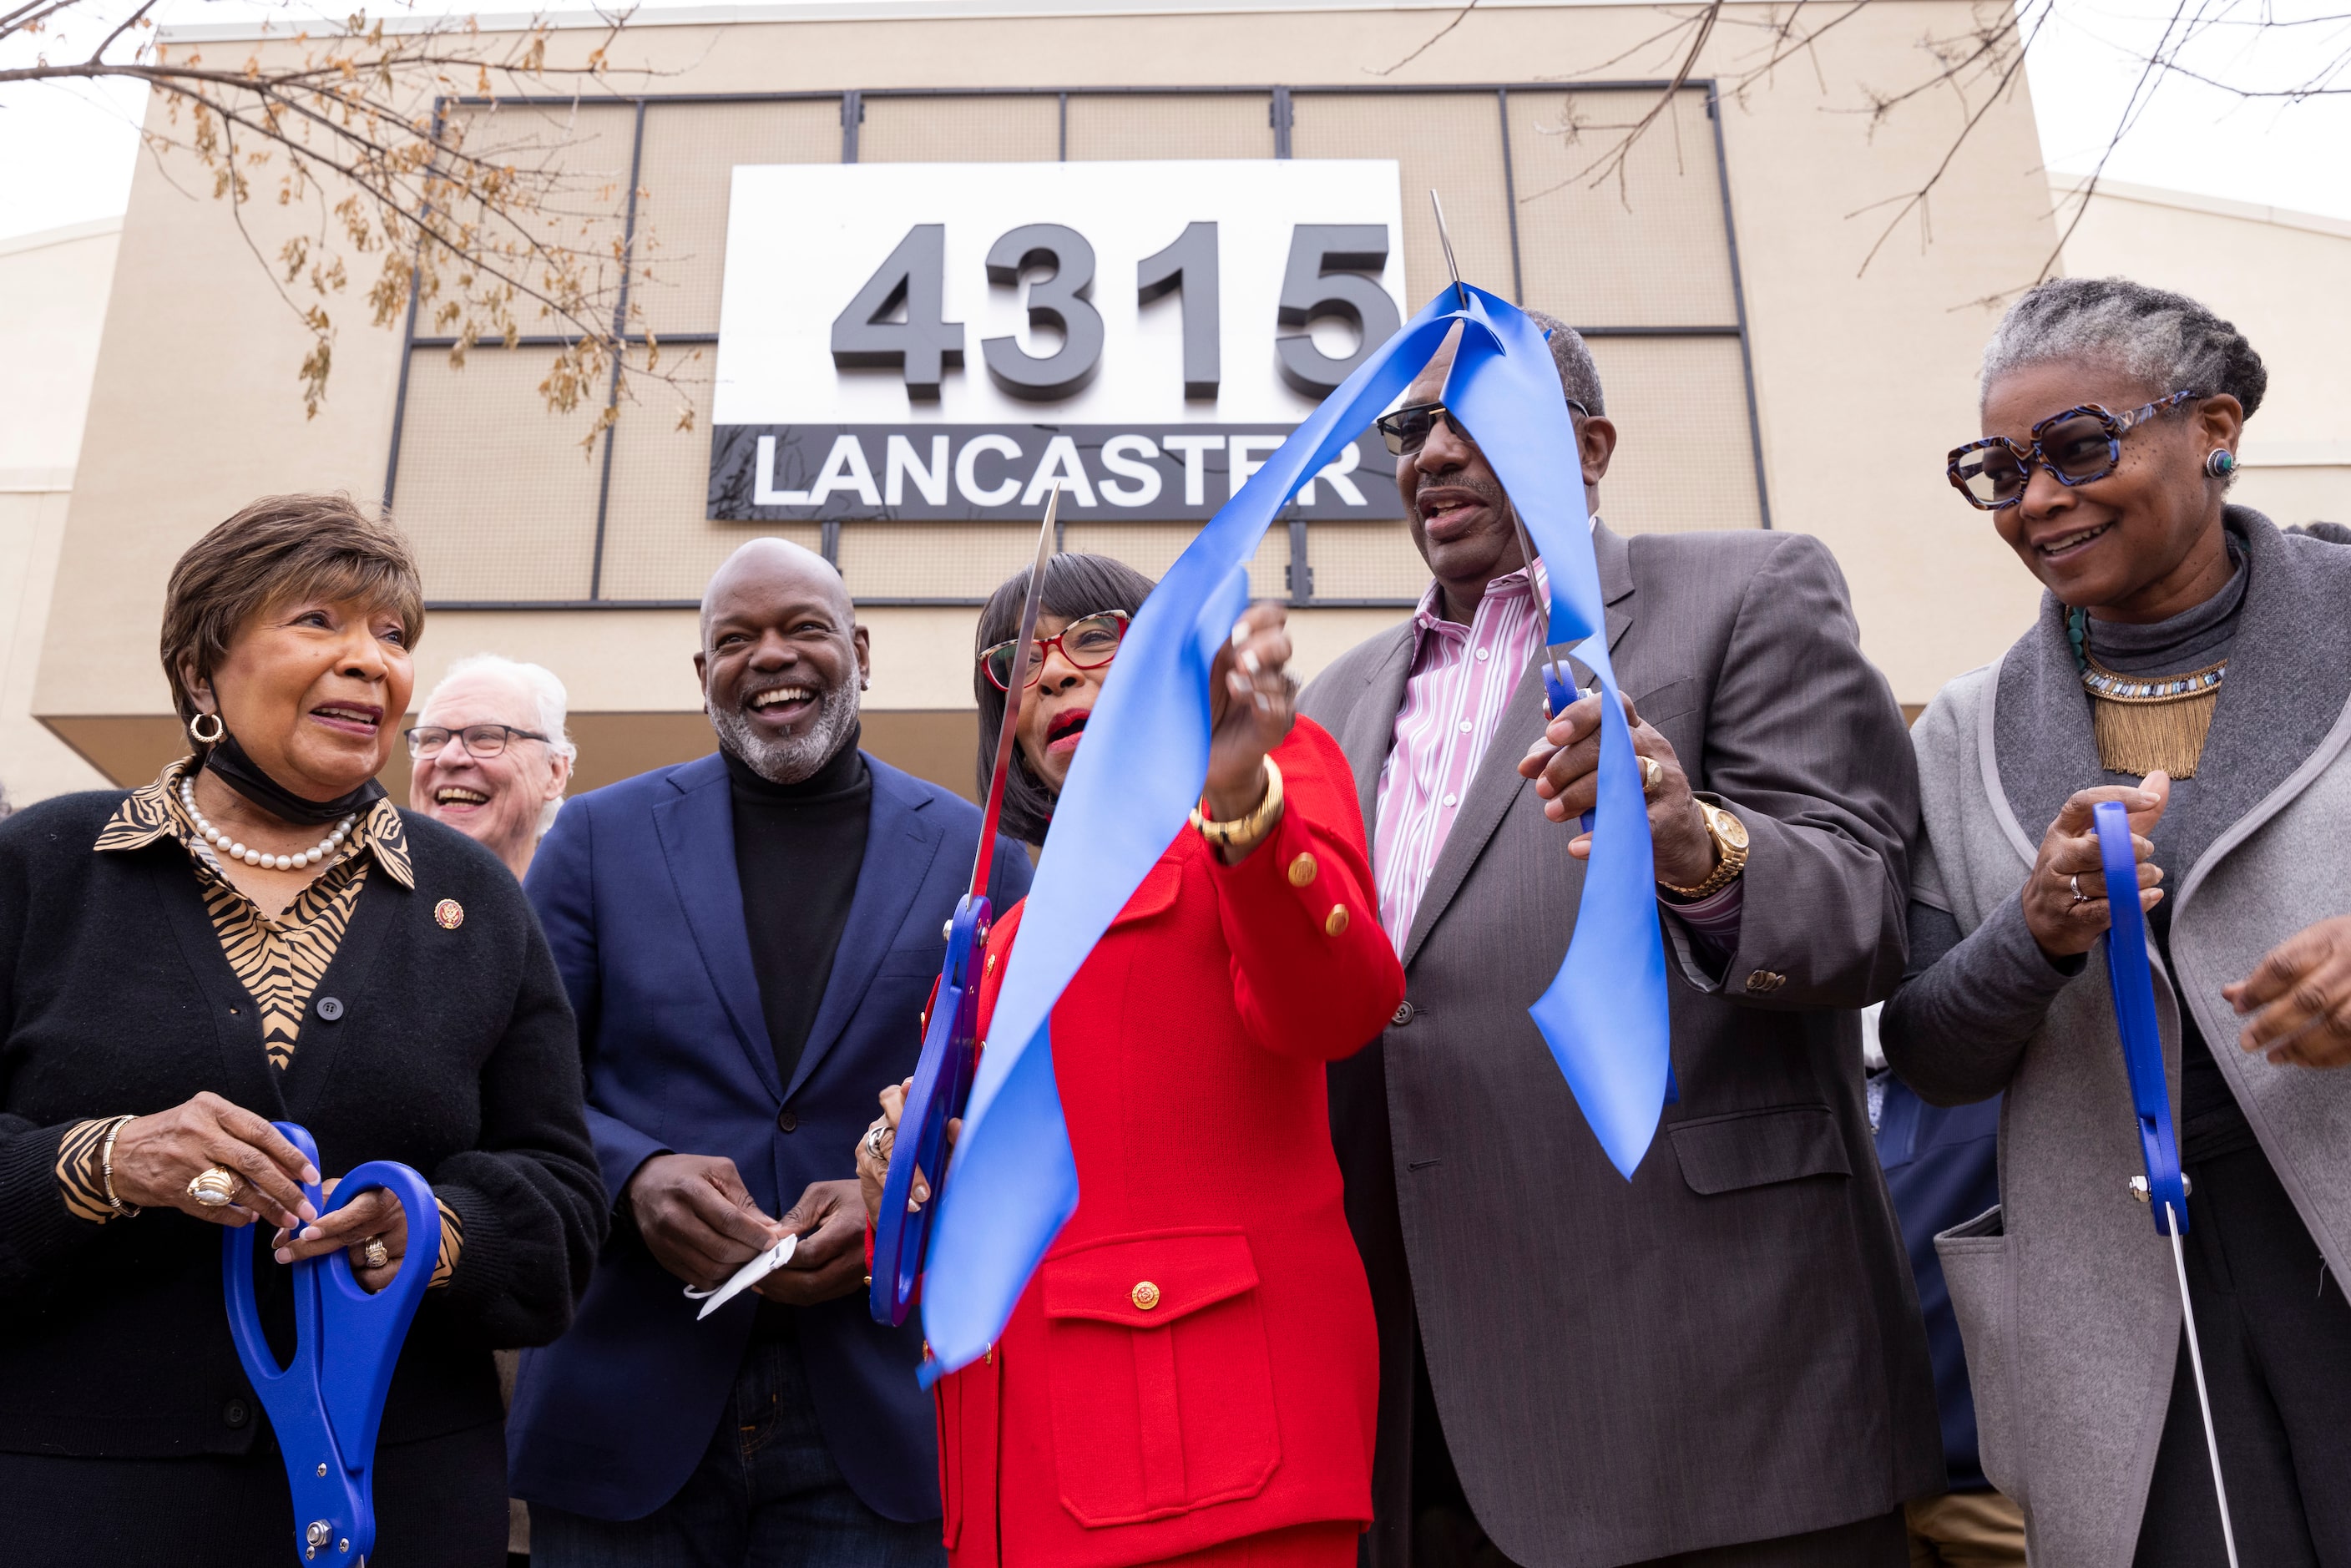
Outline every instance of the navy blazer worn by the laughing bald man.
<path fill-rule="evenodd" d="M 915 1070 L 945 924 L 971 879 L 980 813 L 865 757 L 872 818 L 849 924 L 790 1084 L 759 1006 L 734 804 L 717 755 L 581 795 L 555 818 L 524 889 L 571 992 L 588 1131 L 618 1204 L 651 1154 L 724 1154 L 776 1215 L 816 1180 L 856 1175 L 875 1095 Z M 997 910 L 1030 860 L 997 842 Z M 710 1446 L 757 1298 L 696 1321 L 684 1286 L 616 1222 L 571 1331 L 522 1359 L 508 1418 L 510 1488 L 595 1519 L 642 1519 Z M 799 1309 L 799 1352 L 825 1441 L 875 1512 L 938 1519 L 922 1333 L 882 1328 L 865 1293 Z"/>

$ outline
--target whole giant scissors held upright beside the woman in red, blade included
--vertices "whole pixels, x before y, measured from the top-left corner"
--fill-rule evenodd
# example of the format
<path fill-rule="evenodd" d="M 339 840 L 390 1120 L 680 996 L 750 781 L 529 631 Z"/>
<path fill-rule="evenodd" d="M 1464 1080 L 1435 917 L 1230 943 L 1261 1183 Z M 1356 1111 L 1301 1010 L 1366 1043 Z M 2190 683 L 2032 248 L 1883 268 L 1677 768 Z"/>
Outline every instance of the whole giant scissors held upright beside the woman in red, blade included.
<path fill-rule="evenodd" d="M 947 924 L 947 959 L 938 971 L 938 997 L 931 1001 L 931 1025 L 922 1034 L 922 1058 L 915 1063 L 915 1088 L 898 1117 L 898 1143 L 891 1145 L 889 1180 L 882 1185 L 882 1213 L 875 1218 L 875 1274 L 868 1309 L 877 1324 L 896 1328 L 915 1305 L 922 1284 L 922 1260 L 931 1246 L 931 1215 L 938 1204 L 912 1206 L 915 1171 L 922 1168 L 938 1197 L 945 1182 L 947 1121 L 964 1114 L 971 1079 L 980 1067 L 980 954 L 994 910 L 987 905 L 987 872 L 997 853 L 997 818 L 1004 816 L 1004 776 L 1020 733 L 1020 698 L 1027 691 L 1030 658 L 1037 654 L 1037 611 L 1044 607 L 1044 567 L 1053 559 L 1053 517 L 1060 510 L 1060 487 L 1044 503 L 1044 529 L 1037 534 L 1037 562 L 1030 567 L 1027 597 L 1020 599 L 1020 642 L 1013 654 L 1013 677 L 1004 693 L 1004 724 L 997 729 L 997 759 L 987 776 L 987 809 L 980 813 L 980 853 L 971 863 L 971 889 L 955 905 Z M 898 1159 L 898 1154 L 907 1159 Z"/>

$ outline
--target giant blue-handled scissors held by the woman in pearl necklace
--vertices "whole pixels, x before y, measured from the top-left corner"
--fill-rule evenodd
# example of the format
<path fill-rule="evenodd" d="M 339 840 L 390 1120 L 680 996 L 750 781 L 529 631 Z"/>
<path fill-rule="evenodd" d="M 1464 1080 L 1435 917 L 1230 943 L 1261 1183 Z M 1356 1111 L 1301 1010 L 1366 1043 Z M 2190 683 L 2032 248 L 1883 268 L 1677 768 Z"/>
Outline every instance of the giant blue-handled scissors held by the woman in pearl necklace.
<path fill-rule="evenodd" d="M 287 1143 L 317 1168 L 317 1143 L 292 1121 L 273 1121 Z M 329 1201 L 320 1187 L 306 1185 L 303 1197 L 324 1218 L 360 1197 L 383 1187 L 409 1215 L 411 1258 L 383 1291 L 369 1295 L 350 1274 L 341 1251 L 306 1258 L 294 1274 L 294 1361 L 277 1363 L 261 1333 L 261 1309 L 254 1302 L 254 1229 L 245 1225 L 221 1239 L 221 1281 L 228 1295 L 228 1338 L 237 1361 L 270 1413 L 270 1429 L 287 1462 L 287 1486 L 294 1490 L 294 1549 L 306 1563 L 362 1563 L 376 1549 L 374 1460 L 376 1427 L 383 1425 L 383 1396 L 393 1387 L 400 1345 L 409 1321 L 433 1284 L 426 1262 L 440 1237 L 440 1208 L 433 1185 L 409 1166 L 371 1159 L 334 1187 Z"/>

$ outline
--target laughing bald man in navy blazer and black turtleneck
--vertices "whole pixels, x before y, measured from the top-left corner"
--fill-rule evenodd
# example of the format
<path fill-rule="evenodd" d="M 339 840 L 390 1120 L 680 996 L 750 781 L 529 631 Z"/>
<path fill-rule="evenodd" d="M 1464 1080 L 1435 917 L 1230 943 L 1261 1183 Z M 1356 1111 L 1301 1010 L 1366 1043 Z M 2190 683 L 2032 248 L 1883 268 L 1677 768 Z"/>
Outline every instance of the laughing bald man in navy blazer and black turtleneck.
<path fill-rule="evenodd" d="M 980 813 L 858 752 L 868 635 L 809 550 L 743 545 L 694 663 L 719 752 L 574 799 L 527 882 L 614 1232 L 522 1361 L 510 1486 L 541 1568 L 938 1563 L 922 1335 L 865 1312 L 856 1140 L 915 1070 Z M 999 839 L 994 905 L 1027 879 Z M 792 1262 L 696 1321 L 684 1288 L 785 1232 Z"/>

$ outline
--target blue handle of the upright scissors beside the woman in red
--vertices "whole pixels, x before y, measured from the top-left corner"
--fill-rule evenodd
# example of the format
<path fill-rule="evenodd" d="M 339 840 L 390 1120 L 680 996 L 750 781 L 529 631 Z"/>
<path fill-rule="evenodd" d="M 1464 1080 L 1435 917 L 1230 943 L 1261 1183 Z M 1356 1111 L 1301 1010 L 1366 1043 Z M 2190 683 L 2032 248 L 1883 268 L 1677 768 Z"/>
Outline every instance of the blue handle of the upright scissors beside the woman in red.
<path fill-rule="evenodd" d="M 947 926 L 947 961 L 938 973 L 938 1001 L 915 1063 L 915 1088 L 898 1117 L 882 1213 L 875 1218 L 875 1279 L 868 1309 L 877 1324 L 898 1326 L 915 1305 L 922 1260 L 931 1246 L 931 1215 L 947 1180 L 947 1121 L 964 1114 L 980 1063 L 980 952 L 987 947 L 990 905 L 985 893 L 966 893 Z M 907 1213 L 915 1166 L 931 1182 L 929 1201 Z"/>

